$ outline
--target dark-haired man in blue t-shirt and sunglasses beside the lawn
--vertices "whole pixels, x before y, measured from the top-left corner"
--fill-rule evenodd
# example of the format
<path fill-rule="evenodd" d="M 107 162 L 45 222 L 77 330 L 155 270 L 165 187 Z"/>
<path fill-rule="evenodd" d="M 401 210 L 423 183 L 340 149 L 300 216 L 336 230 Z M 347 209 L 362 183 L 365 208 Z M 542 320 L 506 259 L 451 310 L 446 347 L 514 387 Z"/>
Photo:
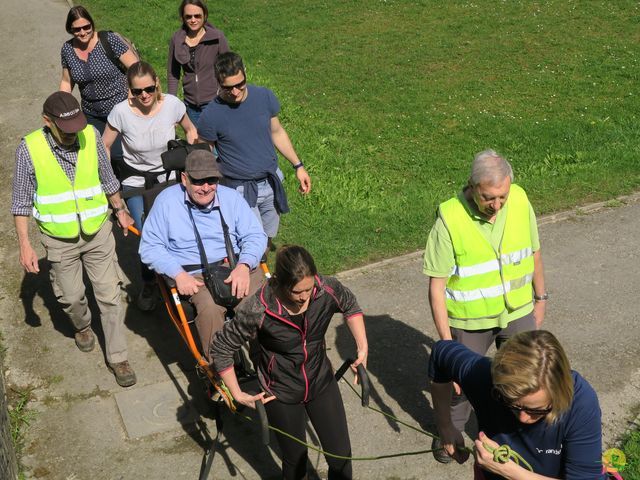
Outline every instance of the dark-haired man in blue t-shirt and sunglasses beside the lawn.
<path fill-rule="evenodd" d="M 198 136 L 217 148 L 224 185 L 244 196 L 262 222 L 270 246 L 280 214 L 289 211 L 275 148 L 296 171 L 302 194 L 311 191 L 311 178 L 278 120 L 280 104 L 273 92 L 247 85 L 237 53 L 219 55 L 215 69 L 220 89 L 202 112 Z"/>

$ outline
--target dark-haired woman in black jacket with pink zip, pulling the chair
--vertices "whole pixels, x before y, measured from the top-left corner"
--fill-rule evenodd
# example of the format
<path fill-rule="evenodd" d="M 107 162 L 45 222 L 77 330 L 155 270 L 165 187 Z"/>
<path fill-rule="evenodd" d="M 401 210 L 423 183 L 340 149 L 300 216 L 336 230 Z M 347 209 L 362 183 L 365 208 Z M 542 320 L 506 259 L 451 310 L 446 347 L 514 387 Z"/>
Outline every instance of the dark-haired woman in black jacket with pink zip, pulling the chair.
<path fill-rule="evenodd" d="M 359 364 L 366 366 L 368 352 L 355 296 L 337 279 L 318 275 L 304 248 L 284 246 L 276 254 L 275 274 L 238 306 L 235 319 L 214 338 L 211 356 L 235 401 L 251 408 L 257 401 L 264 403 L 272 426 L 302 440 L 308 416 L 325 451 L 351 456 L 344 406 L 325 351 L 325 333 L 337 312 L 356 342 L 355 371 Z M 234 352 L 253 338 L 259 345 L 257 370 L 264 390 L 258 395 L 240 389 L 233 369 Z M 305 478 L 307 449 L 283 435 L 277 438 L 283 478 Z M 351 461 L 326 459 L 329 479 L 352 478 Z"/>

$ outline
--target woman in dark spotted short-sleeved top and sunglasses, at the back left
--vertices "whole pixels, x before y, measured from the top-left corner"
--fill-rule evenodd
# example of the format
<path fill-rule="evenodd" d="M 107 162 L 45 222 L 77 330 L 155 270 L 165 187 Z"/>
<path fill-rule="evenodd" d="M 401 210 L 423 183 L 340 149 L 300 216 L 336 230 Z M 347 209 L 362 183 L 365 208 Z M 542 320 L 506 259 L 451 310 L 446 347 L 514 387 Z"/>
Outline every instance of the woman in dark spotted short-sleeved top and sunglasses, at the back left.
<path fill-rule="evenodd" d="M 107 56 L 93 18 L 86 8 L 82 5 L 72 7 L 67 14 L 65 28 L 73 37 L 62 45 L 60 52 L 60 90 L 71 93 L 73 87 L 78 85 L 87 122 L 102 133 L 111 109 L 127 98 L 127 77 Z M 138 61 L 117 34 L 108 32 L 106 40 L 125 67 Z M 122 157 L 119 141 L 114 142 L 111 153 L 117 173 L 117 165 Z"/>

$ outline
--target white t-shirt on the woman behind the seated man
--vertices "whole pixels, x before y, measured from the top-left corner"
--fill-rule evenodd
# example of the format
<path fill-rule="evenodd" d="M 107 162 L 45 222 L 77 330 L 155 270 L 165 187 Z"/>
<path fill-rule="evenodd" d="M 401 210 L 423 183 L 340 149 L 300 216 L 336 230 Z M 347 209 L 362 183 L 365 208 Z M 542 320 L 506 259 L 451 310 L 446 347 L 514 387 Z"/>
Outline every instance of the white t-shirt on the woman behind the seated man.
<path fill-rule="evenodd" d="M 184 103 L 177 97 L 164 95 L 160 109 L 151 117 L 133 112 L 129 100 L 118 103 L 109 114 L 109 125 L 120 132 L 122 155 L 131 167 L 145 172 L 162 171 L 160 154 L 166 152 L 167 142 L 176 138 L 176 123 L 186 114 Z M 165 174 L 158 176 L 164 181 Z M 129 177 L 122 181 L 128 187 L 143 187 L 143 177 Z"/>

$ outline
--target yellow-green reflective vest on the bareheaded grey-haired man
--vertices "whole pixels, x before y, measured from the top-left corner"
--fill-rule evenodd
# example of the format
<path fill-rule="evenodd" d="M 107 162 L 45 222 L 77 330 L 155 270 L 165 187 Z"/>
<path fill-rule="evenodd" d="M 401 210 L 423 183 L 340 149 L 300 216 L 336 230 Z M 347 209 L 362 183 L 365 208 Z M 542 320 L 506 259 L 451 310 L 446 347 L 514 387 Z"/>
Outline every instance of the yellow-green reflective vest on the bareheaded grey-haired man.
<path fill-rule="evenodd" d="M 532 301 L 527 194 L 511 185 L 503 208 L 506 222 L 495 251 L 457 197 L 440 204 L 438 215 L 449 231 L 456 260 L 446 287 L 449 324 L 454 328 L 493 328 L 505 309 L 516 310 Z"/>

